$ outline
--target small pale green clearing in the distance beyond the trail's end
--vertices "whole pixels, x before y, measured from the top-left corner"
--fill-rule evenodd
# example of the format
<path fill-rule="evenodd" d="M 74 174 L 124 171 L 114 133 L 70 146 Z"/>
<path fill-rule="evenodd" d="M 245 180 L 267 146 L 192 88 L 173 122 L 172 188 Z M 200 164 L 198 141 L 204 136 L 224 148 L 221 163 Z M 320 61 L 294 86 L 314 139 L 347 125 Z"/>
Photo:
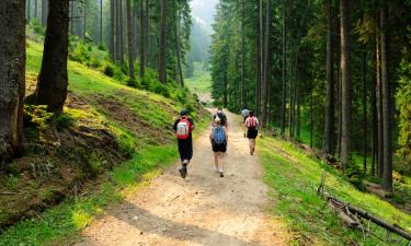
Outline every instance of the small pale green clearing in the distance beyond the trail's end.
<path fill-rule="evenodd" d="M 212 89 L 212 77 L 209 71 L 204 71 L 202 69 L 202 63 L 194 63 L 194 75 L 192 78 L 185 79 L 185 84 L 189 89 L 199 95 L 210 92 Z"/>

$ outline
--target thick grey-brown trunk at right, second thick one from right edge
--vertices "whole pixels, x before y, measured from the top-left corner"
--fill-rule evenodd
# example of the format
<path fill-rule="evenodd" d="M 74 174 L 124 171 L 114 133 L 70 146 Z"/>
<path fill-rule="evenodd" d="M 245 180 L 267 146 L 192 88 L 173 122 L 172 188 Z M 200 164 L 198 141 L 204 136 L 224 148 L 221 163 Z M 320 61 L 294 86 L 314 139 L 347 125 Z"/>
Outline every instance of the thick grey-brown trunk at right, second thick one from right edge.
<path fill-rule="evenodd" d="M 346 169 L 351 159 L 351 50 L 350 50 L 350 0 L 340 1 L 341 14 L 341 92 L 342 92 L 342 131 L 341 163 Z"/>

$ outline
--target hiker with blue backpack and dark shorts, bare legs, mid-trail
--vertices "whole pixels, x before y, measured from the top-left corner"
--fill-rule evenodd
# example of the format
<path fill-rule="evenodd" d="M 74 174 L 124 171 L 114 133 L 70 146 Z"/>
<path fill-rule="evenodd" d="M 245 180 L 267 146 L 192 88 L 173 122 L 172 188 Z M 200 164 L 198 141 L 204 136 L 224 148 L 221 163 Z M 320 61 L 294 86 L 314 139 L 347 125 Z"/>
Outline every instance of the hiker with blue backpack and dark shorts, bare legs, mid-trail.
<path fill-rule="evenodd" d="M 213 147 L 216 173 L 219 173 L 220 177 L 224 177 L 222 161 L 227 151 L 228 134 L 226 126 L 221 125 L 221 119 L 218 116 L 214 119 L 212 131 L 209 133 L 209 141 Z"/>

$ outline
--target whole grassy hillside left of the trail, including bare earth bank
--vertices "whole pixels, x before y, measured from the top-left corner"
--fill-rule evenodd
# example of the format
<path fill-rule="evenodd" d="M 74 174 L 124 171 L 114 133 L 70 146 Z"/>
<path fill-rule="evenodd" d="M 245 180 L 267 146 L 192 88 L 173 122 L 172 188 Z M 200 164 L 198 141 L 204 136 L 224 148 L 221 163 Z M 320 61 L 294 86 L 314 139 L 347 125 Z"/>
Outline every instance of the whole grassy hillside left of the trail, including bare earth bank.
<path fill-rule="evenodd" d="M 76 237 L 106 206 L 176 160 L 172 122 L 181 108 L 191 109 L 198 131 L 208 119 L 189 90 L 152 78 L 133 85 L 158 94 L 136 90 L 119 69 L 113 78 L 103 73 L 112 65 L 102 51 L 90 47 L 88 54 L 93 62 L 68 63 L 69 95 L 55 124 L 44 107 L 25 108 L 26 151 L 0 178 L 0 192 L 8 194 L 0 196 L 0 245 L 61 245 Z M 27 42 L 27 94 L 41 61 L 42 45 Z"/>

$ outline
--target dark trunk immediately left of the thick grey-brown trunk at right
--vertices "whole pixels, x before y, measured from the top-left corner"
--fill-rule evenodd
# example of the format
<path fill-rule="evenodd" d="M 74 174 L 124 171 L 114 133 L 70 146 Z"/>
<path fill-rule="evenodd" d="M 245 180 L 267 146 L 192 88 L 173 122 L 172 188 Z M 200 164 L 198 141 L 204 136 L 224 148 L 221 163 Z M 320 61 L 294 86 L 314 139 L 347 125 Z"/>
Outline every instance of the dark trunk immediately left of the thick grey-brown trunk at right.
<path fill-rule="evenodd" d="M 327 106 L 323 151 L 333 154 L 334 142 L 334 71 L 332 43 L 332 1 L 327 1 Z"/>

